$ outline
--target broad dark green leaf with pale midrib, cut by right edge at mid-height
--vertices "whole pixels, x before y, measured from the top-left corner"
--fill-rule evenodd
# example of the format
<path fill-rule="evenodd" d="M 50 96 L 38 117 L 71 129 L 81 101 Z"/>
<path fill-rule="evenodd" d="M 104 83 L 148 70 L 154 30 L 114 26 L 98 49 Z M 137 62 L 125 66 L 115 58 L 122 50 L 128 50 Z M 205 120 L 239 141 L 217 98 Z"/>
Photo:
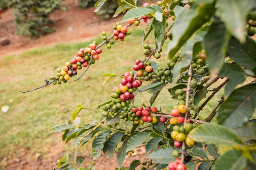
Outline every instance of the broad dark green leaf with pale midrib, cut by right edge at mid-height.
<path fill-rule="evenodd" d="M 256 84 L 249 84 L 233 91 L 216 113 L 218 124 L 229 128 L 243 126 L 256 107 Z"/>

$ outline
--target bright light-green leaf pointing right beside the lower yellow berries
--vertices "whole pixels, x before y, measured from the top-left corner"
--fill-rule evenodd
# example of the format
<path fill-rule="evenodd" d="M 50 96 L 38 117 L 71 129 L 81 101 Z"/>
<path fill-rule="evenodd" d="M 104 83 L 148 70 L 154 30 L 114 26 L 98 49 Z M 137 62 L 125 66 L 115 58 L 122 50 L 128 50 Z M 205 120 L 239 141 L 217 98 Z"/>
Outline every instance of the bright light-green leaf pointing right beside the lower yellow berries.
<path fill-rule="evenodd" d="M 218 146 L 241 146 L 242 141 L 231 130 L 218 124 L 201 124 L 189 132 L 188 137 L 197 142 Z"/>

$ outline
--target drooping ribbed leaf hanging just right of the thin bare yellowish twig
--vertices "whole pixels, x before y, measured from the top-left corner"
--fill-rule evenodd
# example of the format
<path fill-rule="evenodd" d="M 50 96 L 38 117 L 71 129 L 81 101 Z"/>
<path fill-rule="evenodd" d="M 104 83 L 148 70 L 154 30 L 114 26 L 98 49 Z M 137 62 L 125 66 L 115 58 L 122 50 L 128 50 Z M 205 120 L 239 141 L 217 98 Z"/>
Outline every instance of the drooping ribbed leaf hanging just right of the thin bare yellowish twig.
<path fill-rule="evenodd" d="M 92 141 L 92 159 L 97 159 L 101 155 L 104 142 L 110 132 L 110 130 L 103 131 Z"/>

